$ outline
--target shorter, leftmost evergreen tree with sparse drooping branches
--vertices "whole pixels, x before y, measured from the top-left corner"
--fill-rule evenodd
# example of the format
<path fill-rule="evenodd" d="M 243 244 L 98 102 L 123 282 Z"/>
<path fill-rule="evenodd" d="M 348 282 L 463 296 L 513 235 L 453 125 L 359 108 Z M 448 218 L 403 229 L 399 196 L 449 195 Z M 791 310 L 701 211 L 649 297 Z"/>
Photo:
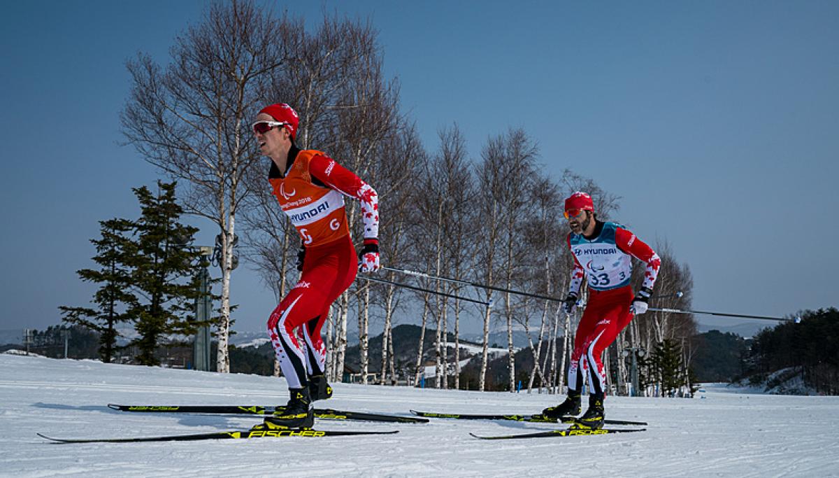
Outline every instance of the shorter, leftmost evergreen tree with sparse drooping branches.
<path fill-rule="evenodd" d="M 128 257 L 136 251 L 136 244 L 127 236 L 133 223 L 114 218 L 100 221 L 100 239 L 91 239 L 96 244 L 93 261 L 100 269 L 76 271 L 82 281 L 101 284 L 91 302 L 96 307 L 65 307 L 59 309 L 66 323 L 90 328 L 99 334 L 99 355 L 102 361 L 111 361 L 119 333 L 117 323 L 133 318 L 137 297 L 129 292 L 131 271 L 126 265 Z"/>

